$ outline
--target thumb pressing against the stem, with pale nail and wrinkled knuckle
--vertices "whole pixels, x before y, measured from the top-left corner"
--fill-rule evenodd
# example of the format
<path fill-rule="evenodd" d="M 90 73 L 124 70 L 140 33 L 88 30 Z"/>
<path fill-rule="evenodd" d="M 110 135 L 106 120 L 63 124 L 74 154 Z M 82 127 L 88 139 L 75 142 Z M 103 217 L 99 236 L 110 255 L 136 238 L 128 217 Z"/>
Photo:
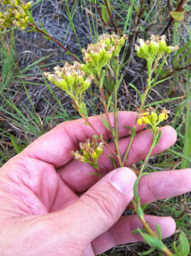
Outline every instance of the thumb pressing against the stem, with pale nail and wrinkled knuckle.
<path fill-rule="evenodd" d="M 135 181 L 131 169 L 115 169 L 63 210 L 72 220 L 75 240 L 88 244 L 111 228 L 132 200 Z"/>

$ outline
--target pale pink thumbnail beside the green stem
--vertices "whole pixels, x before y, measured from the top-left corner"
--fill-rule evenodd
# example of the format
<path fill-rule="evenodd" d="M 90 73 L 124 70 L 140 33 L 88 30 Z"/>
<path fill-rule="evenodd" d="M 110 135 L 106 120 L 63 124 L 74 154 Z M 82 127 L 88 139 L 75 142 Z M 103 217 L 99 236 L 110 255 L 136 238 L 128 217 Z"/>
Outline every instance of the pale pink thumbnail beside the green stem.
<path fill-rule="evenodd" d="M 117 169 L 109 180 L 111 185 L 124 195 L 133 191 L 135 181 L 136 174 L 131 169 L 125 167 Z"/>

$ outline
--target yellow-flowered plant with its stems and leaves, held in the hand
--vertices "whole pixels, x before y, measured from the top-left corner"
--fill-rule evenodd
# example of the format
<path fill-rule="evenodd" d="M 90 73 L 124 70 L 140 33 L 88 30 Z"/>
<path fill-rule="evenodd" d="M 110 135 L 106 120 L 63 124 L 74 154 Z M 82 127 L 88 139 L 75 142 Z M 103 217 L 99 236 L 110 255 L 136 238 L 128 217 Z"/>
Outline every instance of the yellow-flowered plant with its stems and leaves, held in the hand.
<path fill-rule="evenodd" d="M 105 1 L 107 6 L 107 12 L 104 14 L 105 21 L 109 19 L 110 5 L 109 1 Z M 61 43 L 56 41 L 54 38 L 48 35 L 47 31 L 43 28 L 38 28 L 36 23 L 33 21 L 31 11 L 31 3 L 26 4 L 22 0 L 4 0 L 1 1 L 4 6 L 4 11 L 0 13 L 0 28 L 4 30 L 11 26 L 17 26 L 21 29 L 31 28 L 32 31 L 42 33 L 45 38 L 48 38 L 59 46 L 65 49 Z M 102 6 L 104 11 L 104 7 Z M 106 11 L 106 10 L 105 10 Z M 119 86 L 123 80 L 121 72 L 122 64 L 120 53 L 126 43 L 126 35 L 116 34 L 103 34 L 99 36 L 96 43 L 91 43 L 86 49 L 82 50 L 83 61 L 80 61 L 75 55 L 70 53 L 75 61 L 73 63 L 65 63 L 63 67 L 56 66 L 53 73 L 45 73 L 45 78 L 48 78 L 50 82 L 60 87 L 63 91 L 70 96 L 72 105 L 79 112 L 80 116 L 84 119 L 84 124 L 88 125 L 94 131 L 94 137 L 87 139 L 85 142 L 80 143 L 80 149 L 72 151 L 72 156 L 78 161 L 90 164 L 98 176 L 102 177 L 102 173 L 99 170 L 97 163 L 99 156 L 102 154 L 104 147 L 109 149 L 109 158 L 116 166 L 124 166 L 131 149 L 131 144 L 136 134 L 137 125 L 142 123 L 147 124 L 153 132 L 153 143 L 151 149 L 148 151 L 146 159 L 143 161 L 141 170 L 139 171 L 138 178 L 134 185 L 133 193 L 134 199 L 132 201 L 133 208 L 143 223 L 144 230 L 136 230 L 135 233 L 140 233 L 146 240 L 148 245 L 151 246 L 151 250 L 144 252 L 143 255 L 148 255 L 153 250 L 160 250 L 165 255 L 172 256 L 186 256 L 189 255 L 189 243 L 184 233 L 180 233 L 179 244 L 176 242 L 172 245 L 171 252 L 166 247 L 161 239 L 160 227 L 157 226 L 157 233 L 155 233 L 146 222 L 143 208 L 141 208 L 140 195 L 138 195 L 138 182 L 141 176 L 147 175 L 145 167 L 153 148 L 160 142 L 160 123 L 168 118 L 168 110 L 163 109 L 160 113 L 157 110 L 146 107 L 146 100 L 148 95 L 151 93 L 153 87 L 158 85 L 161 80 L 158 80 L 161 70 L 165 65 L 166 60 L 170 53 L 178 50 L 178 46 L 167 46 L 165 36 L 154 36 L 152 35 L 149 40 L 144 41 L 142 38 L 138 39 L 135 45 L 135 50 L 139 58 L 146 60 L 147 66 L 147 83 L 143 94 L 140 95 L 141 105 L 138 107 L 136 120 L 131 127 L 127 127 L 131 130 L 131 138 L 129 144 L 126 147 L 125 154 L 121 156 L 119 151 L 119 124 L 117 122 L 118 109 L 118 97 L 117 92 Z M 65 49 L 67 50 L 67 49 Z M 100 135 L 94 125 L 89 121 L 89 111 L 87 109 L 85 92 L 89 90 L 91 85 L 96 86 L 99 92 L 100 104 L 104 108 L 104 114 L 102 114 L 102 121 L 104 126 L 111 133 L 112 141 L 114 142 L 115 149 L 111 149 L 109 143 L 104 140 L 102 134 Z M 114 124 L 111 124 L 111 114 L 114 114 Z"/>

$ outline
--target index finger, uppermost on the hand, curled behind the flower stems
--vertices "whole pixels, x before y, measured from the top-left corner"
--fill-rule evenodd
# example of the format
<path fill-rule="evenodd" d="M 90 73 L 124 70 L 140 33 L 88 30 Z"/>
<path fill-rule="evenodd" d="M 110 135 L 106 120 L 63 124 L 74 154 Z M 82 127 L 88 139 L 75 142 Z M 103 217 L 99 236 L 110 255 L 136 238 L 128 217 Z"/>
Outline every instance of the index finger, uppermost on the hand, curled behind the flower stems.
<path fill-rule="evenodd" d="M 114 126 L 114 114 L 109 113 L 111 126 Z M 111 132 L 104 127 L 102 116 L 89 117 L 89 121 L 104 139 L 111 139 Z M 133 127 L 136 121 L 136 112 L 119 112 L 117 115 L 119 137 L 129 135 L 130 130 L 124 126 Z M 138 125 L 137 131 L 141 131 L 145 125 Z M 91 138 L 95 132 L 84 124 L 84 119 L 63 122 L 47 132 L 21 154 L 53 164 L 55 167 L 63 166 L 72 159 L 70 151 L 78 149 L 79 143 Z"/>

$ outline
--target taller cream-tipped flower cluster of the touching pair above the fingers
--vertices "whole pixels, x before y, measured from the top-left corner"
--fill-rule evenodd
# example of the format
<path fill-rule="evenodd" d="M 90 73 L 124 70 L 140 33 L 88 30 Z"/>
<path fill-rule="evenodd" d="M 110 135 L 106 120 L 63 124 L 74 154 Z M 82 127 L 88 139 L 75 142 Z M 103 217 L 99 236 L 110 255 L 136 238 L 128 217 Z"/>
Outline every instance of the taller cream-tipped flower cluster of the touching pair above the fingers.
<path fill-rule="evenodd" d="M 102 68 L 109 63 L 112 56 L 118 56 L 124 46 L 126 35 L 117 36 L 103 34 L 97 43 L 90 43 L 87 49 L 83 49 L 84 65 L 82 69 L 85 73 L 100 75 Z"/>

